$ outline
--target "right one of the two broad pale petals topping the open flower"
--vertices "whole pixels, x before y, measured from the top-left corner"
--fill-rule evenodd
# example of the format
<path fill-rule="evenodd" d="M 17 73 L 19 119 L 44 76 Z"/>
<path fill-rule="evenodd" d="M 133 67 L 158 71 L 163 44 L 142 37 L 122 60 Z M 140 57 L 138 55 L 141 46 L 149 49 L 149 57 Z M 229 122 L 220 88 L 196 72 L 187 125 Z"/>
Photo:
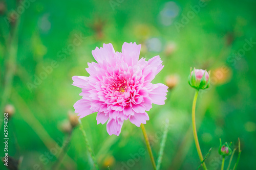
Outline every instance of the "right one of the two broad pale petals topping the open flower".
<path fill-rule="evenodd" d="M 123 60 L 129 66 L 133 66 L 139 60 L 140 56 L 140 48 L 141 44 L 137 45 L 136 42 L 134 43 L 127 43 L 124 42 L 122 46 L 122 54 L 124 56 Z"/>

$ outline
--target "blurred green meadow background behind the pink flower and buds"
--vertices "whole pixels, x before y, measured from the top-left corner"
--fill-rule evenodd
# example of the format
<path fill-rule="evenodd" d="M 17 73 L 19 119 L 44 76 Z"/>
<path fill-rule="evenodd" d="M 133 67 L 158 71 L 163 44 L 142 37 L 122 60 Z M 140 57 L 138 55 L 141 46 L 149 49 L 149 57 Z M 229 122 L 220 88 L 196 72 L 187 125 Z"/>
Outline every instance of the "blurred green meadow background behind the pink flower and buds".
<path fill-rule="evenodd" d="M 58 169 L 94 169 L 79 127 L 67 133 L 81 91 L 71 78 L 89 76 L 85 68 L 95 61 L 96 46 L 112 43 L 120 52 L 123 42 L 136 42 L 142 44 L 140 57 L 160 55 L 165 65 L 153 83 L 172 87 L 145 125 L 157 159 L 169 120 L 161 169 L 200 164 L 191 129 L 190 67 L 211 70 L 211 87 L 200 92 L 196 110 L 203 155 L 212 148 L 208 169 L 221 167 L 219 138 L 236 148 L 238 137 L 237 169 L 255 169 L 255 7 L 253 0 L 0 1 L 0 109 L 9 112 L 9 156 L 21 162 L 19 169 L 53 169 L 59 155 Z M 100 169 L 152 169 L 147 152 L 133 158 L 146 149 L 140 128 L 126 121 L 117 137 L 96 124 L 96 113 L 81 122 Z M 3 117 L 0 125 L 3 157 Z M 67 155 L 58 146 L 63 143 Z"/>

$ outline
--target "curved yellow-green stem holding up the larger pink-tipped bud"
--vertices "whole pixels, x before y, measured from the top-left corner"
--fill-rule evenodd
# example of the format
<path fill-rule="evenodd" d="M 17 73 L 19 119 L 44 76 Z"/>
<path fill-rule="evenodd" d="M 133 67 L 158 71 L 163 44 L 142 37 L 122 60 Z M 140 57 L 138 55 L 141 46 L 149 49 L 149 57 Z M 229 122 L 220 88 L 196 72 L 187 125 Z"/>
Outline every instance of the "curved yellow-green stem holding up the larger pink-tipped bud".
<path fill-rule="evenodd" d="M 197 153 L 198 153 L 200 161 L 203 162 L 204 157 L 203 157 L 201 149 L 200 149 L 200 145 L 199 145 L 199 141 L 198 141 L 198 136 L 197 136 L 197 128 L 196 128 L 196 103 L 197 103 L 198 92 L 199 92 L 199 90 L 196 90 L 196 93 L 195 93 L 195 96 L 194 96 L 194 101 L 193 101 L 193 107 L 192 107 L 192 126 L 193 126 L 194 139 L 195 139 L 195 143 L 196 143 L 196 147 L 197 147 Z M 207 169 L 207 167 L 205 165 L 205 162 L 203 162 L 202 165 L 203 165 L 204 169 Z"/>

